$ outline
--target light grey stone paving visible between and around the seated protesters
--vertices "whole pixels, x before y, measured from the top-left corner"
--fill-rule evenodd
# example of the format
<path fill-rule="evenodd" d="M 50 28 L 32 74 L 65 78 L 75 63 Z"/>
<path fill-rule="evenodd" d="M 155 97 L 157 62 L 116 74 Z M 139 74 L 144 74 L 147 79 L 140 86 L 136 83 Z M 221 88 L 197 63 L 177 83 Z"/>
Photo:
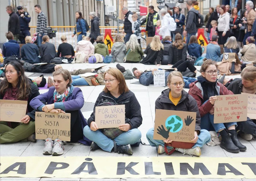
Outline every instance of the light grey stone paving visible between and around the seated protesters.
<path fill-rule="evenodd" d="M 102 64 L 103 65 L 103 64 Z M 116 67 L 116 63 L 107 64 L 111 67 Z M 153 68 L 154 66 L 149 65 L 143 65 L 143 64 L 129 64 L 129 63 L 121 63 L 122 66 L 124 66 L 126 69 L 132 69 L 133 67 L 137 67 L 138 69 L 145 70 L 148 68 Z M 71 68 L 75 69 L 85 69 L 85 68 L 93 68 L 95 66 L 98 66 L 97 64 L 62 64 L 63 68 L 66 68 L 67 70 L 70 70 Z M 197 66 L 197 69 L 199 70 L 200 67 Z M 32 72 L 26 72 L 26 75 L 31 77 Z M 231 76 L 232 78 L 238 78 L 240 75 Z M 46 77 L 47 79 L 47 77 Z M 127 86 L 129 89 L 135 93 L 136 98 L 138 99 L 140 106 L 141 106 L 141 114 L 143 117 L 143 123 L 139 127 L 139 130 L 142 133 L 141 140 L 148 144 L 148 141 L 146 139 L 146 132 L 153 127 L 154 125 L 154 119 L 155 119 L 155 100 L 156 98 L 161 94 L 162 90 L 165 90 L 165 87 L 154 87 L 154 86 L 143 86 L 138 84 L 131 84 L 132 82 L 138 81 L 137 79 L 132 80 L 126 80 Z M 104 86 L 83 86 L 80 87 L 80 89 L 83 91 L 84 99 L 86 103 L 94 103 L 99 95 L 99 93 L 102 91 Z M 185 89 L 188 91 L 188 89 Z M 47 92 L 47 90 L 40 90 L 40 93 Z M 91 111 L 85 111 L 83 112 L 83 115 L 86 119 L 88 119 L 91 115 Z M 239 138 L 240 139 L 240 138 Z M 247 146 L 247 150 L 245 152 L 239 152 L 237 154 L 232 154 L 224 149 L 220 148 L 219 146 L 207 146 L 204 145 L 201 148 L 202 155 L 201 157 L 256 157 L 256 141 L 244 141 L 243 139 L 240 139 L 241 143 Z M 0 156 L 44 156 L 42 154 L 42 150 L 44 148 L 44 140 L 37 140 L 36 143 L 32 142 L 18 142 L 13 144 L 1 144 L 0 145 Z M 165 154 L 158 155 L 156 152 L 156 148 L 153 148 L 151 146 L 147 145 L 140 145 L 140 147 L 133 148 L 133 156 L 151 156 L 151 157 L 157 157 L 157 156 L 167 156 Z M 96 150 L 96 151 L 90 151 L 89 146 L 84 145 L 65 145 L 64 154 L 63 156 L 127 156 L 123 154 L 117 154 L 117 153 L 107 153 L 102 150 Z M 172 156 L 183 156 L 179 152 L 175 152 L 172 154 Z M 185 157 L 190 157 L 189 155 L 184 155 Z M 179 180 L 179 181 L 219 181 L 219 180 L 225 180 L 225 181 L 242 181 L 242 180 L 253 180 L 253 179 L 57 179 L 57 178 L 0 178 L 0 180 L 9 180 L 9 181 L 21 181 L 21 180 L 29 180 L 29 181 L 59 181 L 59 180 L 69 180 L 69 181 L 99 181 L 99 180 L 105 180 L 105 181 L 124 181 L 124 180 L 145 180 L 145 181 L 164 181 L 164 180 Z M 256 180 L 256 179 L 255 179 Z M 254 181 L 255 181 L 254 180 Z"/>

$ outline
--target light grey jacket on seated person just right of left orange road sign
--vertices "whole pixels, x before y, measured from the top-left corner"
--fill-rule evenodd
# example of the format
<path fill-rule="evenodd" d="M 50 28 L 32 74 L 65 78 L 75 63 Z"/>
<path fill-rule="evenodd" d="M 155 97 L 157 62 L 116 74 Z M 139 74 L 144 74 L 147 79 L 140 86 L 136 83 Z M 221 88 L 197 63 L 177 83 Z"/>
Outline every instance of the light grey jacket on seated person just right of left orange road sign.
<path fill-rule="evenodd" d="M 115 42 L 111 48 L 111 55 L 113 56 L 113 61 L 124 62 L 124 57 L 126 55 L 126 46 L 122 42 Z"/>

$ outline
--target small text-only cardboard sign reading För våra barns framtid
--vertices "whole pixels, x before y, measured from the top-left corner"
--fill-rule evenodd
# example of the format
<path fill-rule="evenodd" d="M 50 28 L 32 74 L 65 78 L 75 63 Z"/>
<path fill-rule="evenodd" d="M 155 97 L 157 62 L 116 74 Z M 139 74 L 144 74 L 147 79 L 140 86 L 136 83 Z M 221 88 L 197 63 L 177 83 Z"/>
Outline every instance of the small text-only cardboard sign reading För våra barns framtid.
<path fill-rule="evenodd" d="M 98 128 L 118 128 L 125 124 L 125 105 L 95 107 L 95 122 Z"/>

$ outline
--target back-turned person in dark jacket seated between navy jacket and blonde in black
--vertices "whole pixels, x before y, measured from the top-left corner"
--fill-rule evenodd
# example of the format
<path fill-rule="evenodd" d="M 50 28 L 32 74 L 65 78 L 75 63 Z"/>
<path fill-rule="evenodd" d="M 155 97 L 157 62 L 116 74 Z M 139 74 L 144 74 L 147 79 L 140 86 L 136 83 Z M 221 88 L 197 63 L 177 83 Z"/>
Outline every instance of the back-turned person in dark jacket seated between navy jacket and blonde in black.
<path fill-rule="evenodd" d="M 49 43 L 50 38 L 48 35 L 42 37 L 42 45 L 40 46 L 40 56 L 42 63 L 50 63 L 50 61 L 57 57 L 56 49 L 54 44 Z"/>

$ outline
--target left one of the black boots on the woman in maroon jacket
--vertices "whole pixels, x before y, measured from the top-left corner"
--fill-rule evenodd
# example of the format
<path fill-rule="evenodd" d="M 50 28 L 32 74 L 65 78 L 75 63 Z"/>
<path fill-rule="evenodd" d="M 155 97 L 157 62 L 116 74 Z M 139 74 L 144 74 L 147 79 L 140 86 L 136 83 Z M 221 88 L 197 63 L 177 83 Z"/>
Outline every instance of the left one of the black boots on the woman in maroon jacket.
<path fill-rule="evenodd" d="M 221 148 L 225 149 L 226 151 L 228 151 L 230 153 L 238 153 L 239 152 L 239 148 L 233 143 L 227 130 L 222 130 L 219 132 L 219 134 L 221 135 L 221 138 L 222 138 L 222 140 L 220 142 Z"/>

